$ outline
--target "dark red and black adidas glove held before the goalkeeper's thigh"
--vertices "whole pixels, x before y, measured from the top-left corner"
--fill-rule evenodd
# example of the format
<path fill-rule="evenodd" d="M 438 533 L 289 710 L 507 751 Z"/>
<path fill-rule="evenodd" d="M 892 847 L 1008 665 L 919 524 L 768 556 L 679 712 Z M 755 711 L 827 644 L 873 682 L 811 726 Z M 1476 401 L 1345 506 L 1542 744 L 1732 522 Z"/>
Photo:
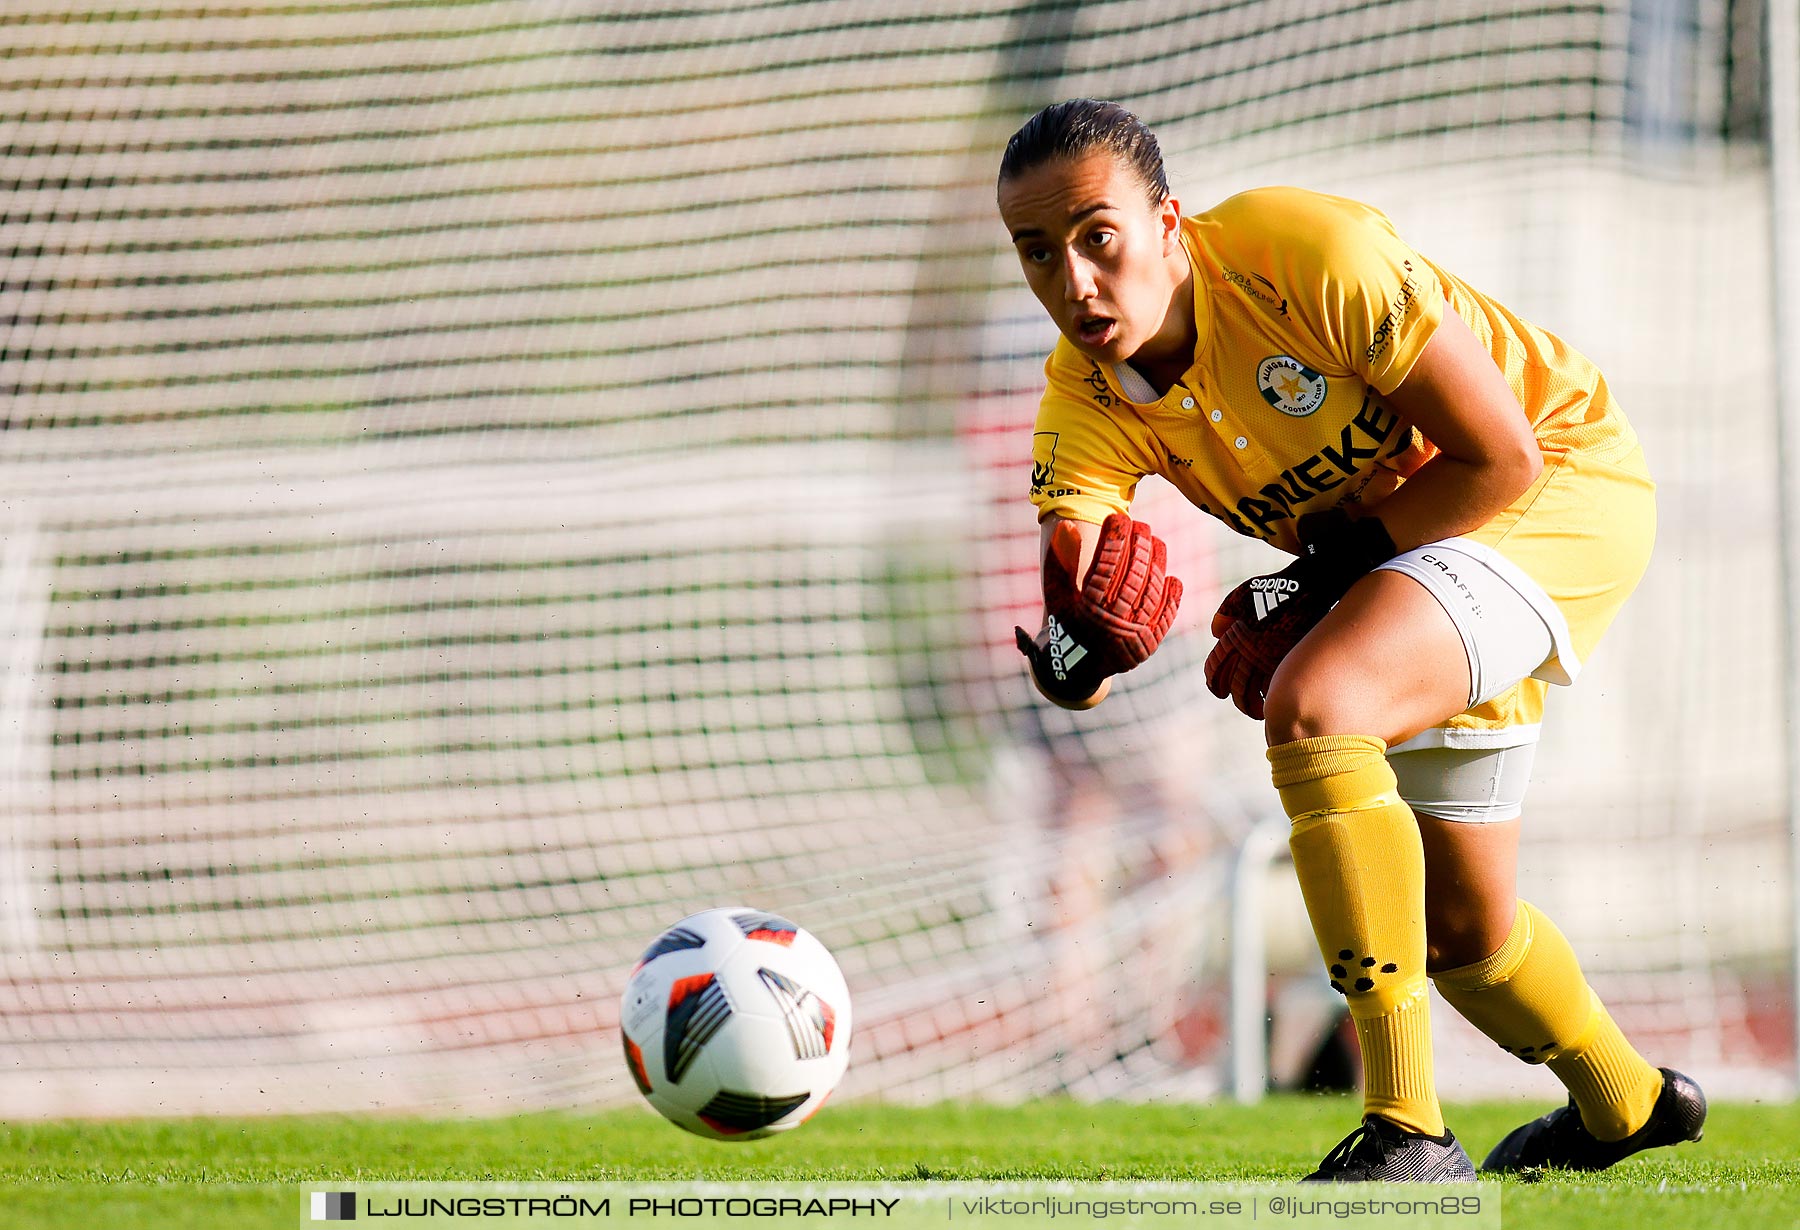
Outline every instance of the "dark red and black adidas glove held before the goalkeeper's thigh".
<path fill-rule="evenodd" d="M 1206 686 L 1258 722 L 1269 679 L 1289 650 L 1352 585 L 1397 555 L 1381 520 L 1352 520 L 1341 508 L 1307 513 L 1294 531 L 1300 558 L 1280 573 L 1251 576 L 1213 616 L 1219 643 L 1206 656 Z"/>

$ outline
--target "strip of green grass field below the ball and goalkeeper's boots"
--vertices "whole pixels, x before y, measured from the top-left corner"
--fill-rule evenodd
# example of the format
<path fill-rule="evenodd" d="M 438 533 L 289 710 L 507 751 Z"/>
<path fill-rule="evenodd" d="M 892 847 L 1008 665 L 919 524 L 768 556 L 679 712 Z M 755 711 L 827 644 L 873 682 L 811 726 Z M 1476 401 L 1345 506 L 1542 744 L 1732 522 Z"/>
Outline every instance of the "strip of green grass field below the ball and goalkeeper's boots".
<path fill-rule="evenodd" d="M 1543 1108 L 1453 1106 L 1480 1162 Z M 1287 1181 L 1355 1122 L 1343 1097 L 1013 1108 L 848 1104 L 720 1145 L 648 1111 L 479 1120 L 265 1118 L 0 1126 L 0 1226 L 293 1226 L 297 1185 L 621 1180 Z M 1508 1180 L 1505 1225 L 1800 1226 L 1800 1106 L 1721 1104 L 1697 1145 L 1598 1176 Z"/>

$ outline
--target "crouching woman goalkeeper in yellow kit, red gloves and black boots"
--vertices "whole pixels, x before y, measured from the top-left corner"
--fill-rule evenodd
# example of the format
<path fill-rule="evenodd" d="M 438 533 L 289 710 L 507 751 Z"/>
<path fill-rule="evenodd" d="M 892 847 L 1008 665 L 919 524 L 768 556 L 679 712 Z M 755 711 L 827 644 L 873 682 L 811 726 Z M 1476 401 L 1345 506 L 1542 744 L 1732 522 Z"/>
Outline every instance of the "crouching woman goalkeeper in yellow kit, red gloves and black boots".
<path fill-rule="evenodd" d="M 1604 1169 L 1699 1140 L 1568 940 L 1516 897 L 1548 684 L 1636 585 L 1654 486 L 1600 373 L 1350 200 L 1274 187 L 1183 216 L 1156 137 L 1044 108 L 999 213 L 1062 340 L 1033 434 L 1039 690 L 1098 704 L 1181 582 L 1129 517 L 1159 474 L 1298 558 L 1231 591 L 1206 683 L 1264 722 L 1294 870 L 1355 1021 L 1364 1118 L 1314 1180 L 1472 1180 L 1438 1108 L 1426 980 L 1570 1090 L 1485 1171 Z"/>

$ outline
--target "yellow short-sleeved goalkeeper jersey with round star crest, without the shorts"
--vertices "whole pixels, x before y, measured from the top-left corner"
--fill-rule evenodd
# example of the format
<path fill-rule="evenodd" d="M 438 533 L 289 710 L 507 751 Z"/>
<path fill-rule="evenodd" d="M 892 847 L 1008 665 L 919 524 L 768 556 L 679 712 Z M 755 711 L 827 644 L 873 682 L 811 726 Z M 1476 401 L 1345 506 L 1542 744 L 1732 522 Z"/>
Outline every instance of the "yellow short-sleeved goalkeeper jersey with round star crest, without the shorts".
<path fill-rule="evenodd" d="M 1062 339 L 1031 439 L 1039 519 L 1105 520 L 1161 474 L 1238 533 L 1296 551 L 1296 517 L 1375 504 L 1435 452 L 1382 394 L 1445 304 L 1487 346 L 1546 454 L 1636 447 L 1586 357 L 1415 252 L 1377 209 L 1264 187 L 1181 227 L 1193 366 L 1157 396 Z"/>

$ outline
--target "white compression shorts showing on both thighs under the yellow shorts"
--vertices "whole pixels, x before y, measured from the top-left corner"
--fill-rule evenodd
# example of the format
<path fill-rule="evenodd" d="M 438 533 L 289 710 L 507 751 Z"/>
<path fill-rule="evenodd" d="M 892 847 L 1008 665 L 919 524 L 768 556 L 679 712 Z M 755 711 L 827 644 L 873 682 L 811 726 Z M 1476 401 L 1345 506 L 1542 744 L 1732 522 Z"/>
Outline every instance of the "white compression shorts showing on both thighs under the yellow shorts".
<path fill-rule="evenodd" d="M 1381 565 L 1424 585 L 1456 625 L 1469 656 L 1471 708 L 1543 668 L 1568 638 L 1552 627 L 1561 614 L 1550 596 L 1519 569 L 1492 567 L 1490 558 L 1492 551 L 1469 551 L 1451 540 L 1402 551 Z M 1415 812 L 1463 823 L 1519 816 L 1535 733 L 1508 747 L 1442 747 L 1429 735 L 1388 753 L 1400 798 Z"/>

